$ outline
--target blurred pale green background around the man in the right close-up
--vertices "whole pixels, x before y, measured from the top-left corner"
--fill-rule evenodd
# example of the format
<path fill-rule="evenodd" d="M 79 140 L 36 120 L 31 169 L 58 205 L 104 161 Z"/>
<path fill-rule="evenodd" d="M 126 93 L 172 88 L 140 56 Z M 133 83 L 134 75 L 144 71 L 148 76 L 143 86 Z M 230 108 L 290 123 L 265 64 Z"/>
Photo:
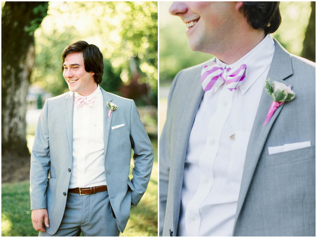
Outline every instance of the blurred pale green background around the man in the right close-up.
<path fill-rule="evenodd" d="M 159 2 L 159 134 L 163 129 L 169 87 L 179 70 L 213 56 L 189 49 L 185 24 L 172 16 L 172 2 Z M 282 23 L 272 37 L 290 53 L 316 61 L 316 2 L 281 1 Z"/>

